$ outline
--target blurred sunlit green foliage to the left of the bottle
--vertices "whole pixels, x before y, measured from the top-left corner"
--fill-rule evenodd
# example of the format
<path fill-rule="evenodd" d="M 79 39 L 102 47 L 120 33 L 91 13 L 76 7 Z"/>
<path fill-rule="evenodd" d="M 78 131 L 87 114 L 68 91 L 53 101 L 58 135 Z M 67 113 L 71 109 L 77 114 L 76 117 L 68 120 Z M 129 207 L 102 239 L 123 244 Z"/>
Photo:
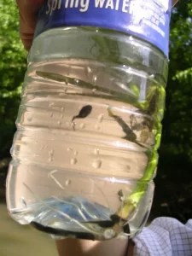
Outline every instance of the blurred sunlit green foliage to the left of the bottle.
<path fill-rule="evenodd" d="M 0 1 L 0 159 L 9 156 L 15 132 L 26 52 L 20 43 L 15 1 Z"/>

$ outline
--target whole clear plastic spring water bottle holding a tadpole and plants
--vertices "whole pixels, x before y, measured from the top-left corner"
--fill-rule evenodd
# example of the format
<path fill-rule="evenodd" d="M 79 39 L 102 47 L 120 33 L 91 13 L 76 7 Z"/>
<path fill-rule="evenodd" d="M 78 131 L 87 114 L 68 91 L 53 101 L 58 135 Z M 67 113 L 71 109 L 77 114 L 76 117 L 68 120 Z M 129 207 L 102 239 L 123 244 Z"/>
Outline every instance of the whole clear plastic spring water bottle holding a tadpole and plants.
<path fill-rule="evenodd" d="M 171 0 L 49 0 L 16 120 L 7 205 L 54 237 L 135 236 L 160 146 Z"/>

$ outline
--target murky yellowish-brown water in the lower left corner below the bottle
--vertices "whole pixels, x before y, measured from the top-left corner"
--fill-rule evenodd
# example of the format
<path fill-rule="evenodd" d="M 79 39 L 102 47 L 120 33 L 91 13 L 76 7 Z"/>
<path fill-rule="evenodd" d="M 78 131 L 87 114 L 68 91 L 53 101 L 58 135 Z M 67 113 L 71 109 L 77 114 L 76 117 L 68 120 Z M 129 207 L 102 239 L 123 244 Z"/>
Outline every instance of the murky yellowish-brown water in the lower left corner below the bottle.
<path fill-rule="evenodd" d="M 57 256 L 55 241 L 29 225 L 12 220 L 4 204 L 0 204 L 1 256 Z"/>

